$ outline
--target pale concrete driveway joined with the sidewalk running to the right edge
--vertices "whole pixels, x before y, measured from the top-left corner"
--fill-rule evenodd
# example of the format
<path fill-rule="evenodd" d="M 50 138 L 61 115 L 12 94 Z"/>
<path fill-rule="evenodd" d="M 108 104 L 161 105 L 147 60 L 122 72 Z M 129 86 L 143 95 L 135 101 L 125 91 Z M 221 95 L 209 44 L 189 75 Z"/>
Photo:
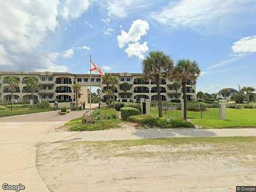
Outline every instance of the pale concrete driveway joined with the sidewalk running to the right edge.
<path fill-rule="evenodd" d="M 0 118 L 0 184 L 26 186 L 26 191 L 47 191 L 35 164 L 37 143 L 168 137 L 256 136 L 256 129 L 125 129 L 92 132 L 51 132 L 83 111 L 58 116 L 57 111 Z"/>

